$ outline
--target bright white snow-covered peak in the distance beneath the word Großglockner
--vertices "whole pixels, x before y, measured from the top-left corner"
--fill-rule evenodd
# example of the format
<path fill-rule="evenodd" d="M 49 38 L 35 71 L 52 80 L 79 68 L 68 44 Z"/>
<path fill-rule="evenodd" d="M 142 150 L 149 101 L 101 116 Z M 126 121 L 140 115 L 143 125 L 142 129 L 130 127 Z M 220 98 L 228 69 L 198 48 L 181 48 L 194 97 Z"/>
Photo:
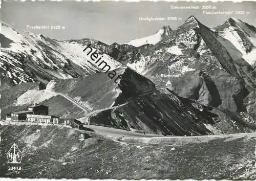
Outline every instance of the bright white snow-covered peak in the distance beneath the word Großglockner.
<path fill-rule="evenodd" d="M 144 38 L 138 38 L 129 41 L 126 44 L 130 44 L 134 47 L 140 47 L 143 44 L 156 44 L 161 41 L 163 38 L 167 37 L 170 33 L 172 33 L 172 29 L 167 25 L 162 27 L 156 34 L 147 36 Z"/>

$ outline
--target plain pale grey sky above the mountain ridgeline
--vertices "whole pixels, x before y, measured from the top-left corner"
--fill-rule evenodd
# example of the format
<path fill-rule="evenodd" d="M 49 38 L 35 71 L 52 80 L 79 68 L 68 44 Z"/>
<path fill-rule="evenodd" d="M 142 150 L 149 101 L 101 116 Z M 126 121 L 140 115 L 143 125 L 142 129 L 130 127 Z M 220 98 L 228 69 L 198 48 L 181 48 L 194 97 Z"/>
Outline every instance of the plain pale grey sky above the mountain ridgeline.
<path fill-rule="evenodd" d="M 203 15 L 200 10 L 174 10 L 170 6 L 211 5 L 215 11 L 248 11 L 247 15 Z M 43 34 L 58 40 L 94 38 L 111 44 L 124 43 L 156 33 L 162 26 L 172 29 L 187 17 L 195 15 L 202 24 L 212 28 L 231 17 L 237 17 L 256 27 L 256 2 L 21 2 L 2 1 L 1 20 L 15 28 Z M 176 21 L 140 21 L 139 17 L 181 17 Z M 65 26 L 65 29 L 27 29 L 26 26 Z"/>

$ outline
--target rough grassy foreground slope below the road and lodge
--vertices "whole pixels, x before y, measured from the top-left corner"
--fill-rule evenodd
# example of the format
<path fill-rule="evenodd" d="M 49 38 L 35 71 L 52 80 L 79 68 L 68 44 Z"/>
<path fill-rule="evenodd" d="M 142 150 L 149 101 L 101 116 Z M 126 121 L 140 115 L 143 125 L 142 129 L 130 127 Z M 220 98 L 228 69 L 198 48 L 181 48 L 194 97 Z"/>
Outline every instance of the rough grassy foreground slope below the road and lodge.
<path fill-rule="evenodd" d="M 241 179 L 255 177 L 255 134 L 183 138 L 104 138 L 57 126 L 0 126 L 0 176 L 90 179 Z M 23 152 L 8 170 L 8 152 Z"/>

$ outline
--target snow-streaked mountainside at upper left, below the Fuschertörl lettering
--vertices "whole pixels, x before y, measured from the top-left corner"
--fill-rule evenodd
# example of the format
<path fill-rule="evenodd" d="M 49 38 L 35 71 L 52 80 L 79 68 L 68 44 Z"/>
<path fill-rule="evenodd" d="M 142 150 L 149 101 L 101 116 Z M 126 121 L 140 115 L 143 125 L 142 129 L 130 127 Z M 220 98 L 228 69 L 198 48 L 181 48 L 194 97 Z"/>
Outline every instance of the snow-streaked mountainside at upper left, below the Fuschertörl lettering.
<path fill-rule="evenodd" d="M 34 81 L 28 72 L 40 72 L 42 76 L 35 75 L 33 78 L 47 83 L 50 77 L 68 79 L 80 74 L 92 75 L 102 69 L 87 61 L 91 58 L 83 52 L 83 44 L 35 35 L 15 29 L 4 22 L 1 22 L 1 25 L 1 34 L 6 39 L 6 44 L 0 51 L 0 68 L 4 70 L 2 75 L 9 77 L 13 84 Z M 24 68 L 27 60 L 30 61 L 29 66 Z M 108 63 L 111 70 L 121 65 L 106 54 L 103 54 L 102 60 Z M 67 69 L 69 66 L 72 66 L 71 69 Z M 104 63 L 101 66 L 104 66 Z"/>

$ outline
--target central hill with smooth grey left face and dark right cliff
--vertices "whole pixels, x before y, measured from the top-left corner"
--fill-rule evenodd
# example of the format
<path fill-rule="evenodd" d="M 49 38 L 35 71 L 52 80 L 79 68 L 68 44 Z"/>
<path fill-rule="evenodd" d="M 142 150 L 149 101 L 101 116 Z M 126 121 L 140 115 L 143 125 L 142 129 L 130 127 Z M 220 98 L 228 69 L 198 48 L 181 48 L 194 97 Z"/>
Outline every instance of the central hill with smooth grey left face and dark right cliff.
<path fill-rule="evenodd" d="M 115 70 L 121 79 L 98 73 L 87 78 L 52 80 L 46 91 L 62 93 L 76 99 L 90 110 L 125 103 L 128 99 L 155 90 L 155 84 L 125 67 Z"/>

